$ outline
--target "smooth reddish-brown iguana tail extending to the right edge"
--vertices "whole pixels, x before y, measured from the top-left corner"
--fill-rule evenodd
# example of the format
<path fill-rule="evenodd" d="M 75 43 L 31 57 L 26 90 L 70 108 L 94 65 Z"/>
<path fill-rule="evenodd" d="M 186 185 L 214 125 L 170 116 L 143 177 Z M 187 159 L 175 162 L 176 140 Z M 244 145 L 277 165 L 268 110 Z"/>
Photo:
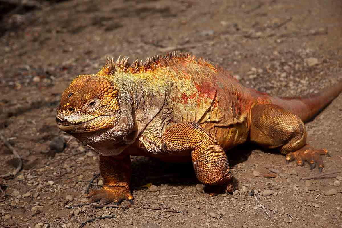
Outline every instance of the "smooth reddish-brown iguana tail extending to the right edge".
<path fill-rule="evenodd" d="M 342 82 L 339 82 L 317 94 L 304 97 L 272 97 L 271 101 L 299 116 L 303 122 L 307 122 L 317 116 L 341 92 Z"/>

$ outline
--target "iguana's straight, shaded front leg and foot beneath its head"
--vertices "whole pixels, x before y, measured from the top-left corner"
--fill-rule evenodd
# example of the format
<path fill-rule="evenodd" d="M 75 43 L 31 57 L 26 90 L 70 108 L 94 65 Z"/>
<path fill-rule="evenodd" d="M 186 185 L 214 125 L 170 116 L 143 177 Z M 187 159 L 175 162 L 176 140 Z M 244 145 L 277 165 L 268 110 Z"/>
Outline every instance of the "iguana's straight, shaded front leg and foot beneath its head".
<path fill-rule="evenodd" d="M 92 202 L 102 203 L 113 202 L 117 205 L 122 200 L 129 200 L 133 203 L 133 196 L 130 190 L 131 159 L 129 155 L 101 156 L 100 171 L 104 179 L 102 189 L 93 190 L 88 194 Z"/>

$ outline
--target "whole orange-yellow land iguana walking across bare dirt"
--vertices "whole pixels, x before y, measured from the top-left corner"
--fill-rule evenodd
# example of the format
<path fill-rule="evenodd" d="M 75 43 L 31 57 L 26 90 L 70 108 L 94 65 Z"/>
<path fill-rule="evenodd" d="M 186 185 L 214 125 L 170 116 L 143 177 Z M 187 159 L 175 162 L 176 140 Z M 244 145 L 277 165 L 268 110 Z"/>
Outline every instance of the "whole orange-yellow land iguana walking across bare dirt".
<path fill-rule="evenodd" d="M 130 155 L 191 160 L 200 182 L 228 192 L 234 185 L 225 151 L 246 141 L 277 149 L 287 162 L 317 164 L 321 172 L 320 155 L 328 152 L 306 144 L 303 122 L 341 91 L 339 82 L 318 95 L 275 97 L 189 54 L 132 64 L 107 57 L 99 72 L 78 76 L 63 92 L 56 122 L 100 154 L 104 186 L 90 200 L 133 203 Z"/>

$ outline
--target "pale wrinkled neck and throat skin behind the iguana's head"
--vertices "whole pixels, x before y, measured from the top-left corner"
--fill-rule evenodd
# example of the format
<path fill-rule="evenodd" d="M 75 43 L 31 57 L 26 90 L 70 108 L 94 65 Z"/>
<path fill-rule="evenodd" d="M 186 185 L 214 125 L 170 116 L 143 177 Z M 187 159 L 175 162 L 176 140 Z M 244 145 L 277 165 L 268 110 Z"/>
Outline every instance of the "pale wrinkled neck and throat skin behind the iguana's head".
<path fill-rule="evenodd" d="M 73 134 L 102 156 L 119 155 L 133 144 L 165 103 L 165 90 L 132 76 L 111 79 L 117 85 L 121 117 L 118 125 L 96 132 Z"/>

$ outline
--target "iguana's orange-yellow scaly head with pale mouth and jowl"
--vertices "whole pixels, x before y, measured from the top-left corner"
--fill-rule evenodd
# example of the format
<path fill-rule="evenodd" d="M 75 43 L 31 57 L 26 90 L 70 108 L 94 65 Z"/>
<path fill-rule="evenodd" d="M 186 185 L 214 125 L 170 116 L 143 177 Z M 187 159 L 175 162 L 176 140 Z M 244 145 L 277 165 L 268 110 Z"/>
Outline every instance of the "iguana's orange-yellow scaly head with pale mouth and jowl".
<path fill-rule="evenodd" d="M 57 107 L 58 127 L 100 153 L 106 152 L 101 149 L 103 143 L 123 147 L 133 121 L 131 111 L 118 101 L 119 91 L 116 83 L 104 76 L 77 77 L 63 92 Z"/>

